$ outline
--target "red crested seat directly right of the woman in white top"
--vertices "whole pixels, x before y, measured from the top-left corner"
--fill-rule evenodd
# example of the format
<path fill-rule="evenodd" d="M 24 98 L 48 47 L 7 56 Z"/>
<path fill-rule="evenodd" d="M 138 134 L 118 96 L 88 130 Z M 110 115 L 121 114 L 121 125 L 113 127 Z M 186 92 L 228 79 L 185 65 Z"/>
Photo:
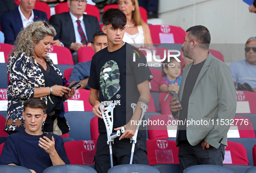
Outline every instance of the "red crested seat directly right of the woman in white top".
<path fill-rule="evenodd" d="M 151 38 L 154 44 L 183 43 L 186 32 L 177 26 L 149 25 Z"/>

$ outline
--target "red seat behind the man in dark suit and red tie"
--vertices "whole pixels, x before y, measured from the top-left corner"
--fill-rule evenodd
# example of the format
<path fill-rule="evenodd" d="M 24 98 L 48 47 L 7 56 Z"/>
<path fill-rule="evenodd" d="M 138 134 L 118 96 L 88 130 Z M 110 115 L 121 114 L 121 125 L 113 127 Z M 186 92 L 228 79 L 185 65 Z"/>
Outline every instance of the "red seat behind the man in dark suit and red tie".
<path fill-rule="evenodd" d="M 69 12 L 68 4 L 66 2 L 58 3 L 55 6 L 55 14 L 64 13 L 64 12 Z M 97 17 L 98 21 L 100 22 L 100 11 L 96 6 L 87 4 L 84 12 L 87 15 Z"/>

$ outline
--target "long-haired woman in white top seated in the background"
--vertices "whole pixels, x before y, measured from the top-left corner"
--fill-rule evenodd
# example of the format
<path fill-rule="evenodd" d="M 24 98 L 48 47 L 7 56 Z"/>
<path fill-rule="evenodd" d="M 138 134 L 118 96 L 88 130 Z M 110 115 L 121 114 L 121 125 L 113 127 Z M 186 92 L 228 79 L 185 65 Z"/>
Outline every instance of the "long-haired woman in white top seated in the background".
<path fill-rule="evenodd" d="M 137 0 L 118 0 L 120 9 L 127 19 L 123 41 L 129 44 L 152 44 L 149 25 L 141 19 Z"/>

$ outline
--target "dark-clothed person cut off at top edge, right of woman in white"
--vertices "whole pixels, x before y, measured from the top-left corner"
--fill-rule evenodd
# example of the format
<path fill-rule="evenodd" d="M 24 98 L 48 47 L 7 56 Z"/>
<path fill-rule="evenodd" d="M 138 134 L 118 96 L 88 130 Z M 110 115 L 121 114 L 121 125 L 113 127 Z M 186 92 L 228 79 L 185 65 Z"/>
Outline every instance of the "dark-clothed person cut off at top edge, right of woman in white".
<path fill-rule="evenodd" d="M 159 0 L 138 0 L 139 6 L 142 6 L 148 12 L 148 19 L 158 18 L 158 1 Z"/>

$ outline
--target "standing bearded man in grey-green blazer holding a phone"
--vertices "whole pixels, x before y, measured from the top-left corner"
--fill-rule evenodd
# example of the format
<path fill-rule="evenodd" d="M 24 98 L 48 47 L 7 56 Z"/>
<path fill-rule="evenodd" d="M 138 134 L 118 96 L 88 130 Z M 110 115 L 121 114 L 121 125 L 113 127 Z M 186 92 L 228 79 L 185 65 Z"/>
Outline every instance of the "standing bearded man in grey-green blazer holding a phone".
<path fill-rule="evenodd" d="M 176 136 L 180 173 L 193 165 L 223 164 L 230 123 L 217 122 L 230 122 L 236 113 L 237 95 L 230 70 L 209 52 L 210 42 L 209 30 L 197 25 L 186 31 L 181 46 L 184 56 L 194 61 L 182 75 L 181 105 L 175 98 L 169 104 L 172 116 L 182 122 Z"/>

